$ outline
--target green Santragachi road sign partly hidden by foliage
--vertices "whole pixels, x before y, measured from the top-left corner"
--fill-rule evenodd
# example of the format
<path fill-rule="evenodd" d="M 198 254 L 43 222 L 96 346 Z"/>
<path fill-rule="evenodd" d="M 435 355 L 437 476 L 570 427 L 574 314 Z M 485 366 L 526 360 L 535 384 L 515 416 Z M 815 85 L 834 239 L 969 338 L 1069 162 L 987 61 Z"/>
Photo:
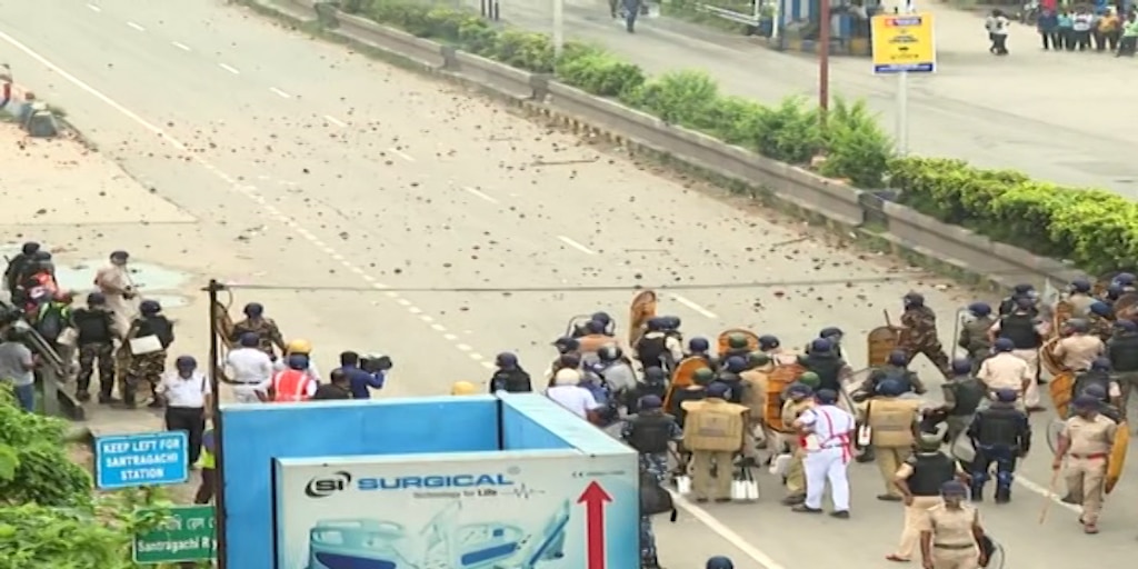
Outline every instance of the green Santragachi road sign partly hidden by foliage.
<path fill-rule="evenodd" d="M 217 555 L 214 520 L 212 505 L 171 508 L 170 520 L 163 527 L 134 536 L 134 562 L 174 563 L 214 559 Z"/>

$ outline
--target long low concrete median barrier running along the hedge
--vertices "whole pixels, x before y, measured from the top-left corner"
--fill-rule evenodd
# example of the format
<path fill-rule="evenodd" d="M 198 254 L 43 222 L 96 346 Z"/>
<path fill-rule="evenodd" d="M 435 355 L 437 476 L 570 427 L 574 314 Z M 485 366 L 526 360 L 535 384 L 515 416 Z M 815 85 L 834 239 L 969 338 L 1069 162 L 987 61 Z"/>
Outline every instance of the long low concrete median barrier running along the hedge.
<path fill-rule="evenodd" d="M 240 0 L 261 14 L 296 22 L 318 19 L 311 0 Z M 320 5 L 315 34 L 412 71 L 456 82 L 574 133 L 600 138 L 629 155 L 650 158 L 807 222 L 871 250 L 888 253 L 972 286 L 993 290 L 1021 282 L 1037 287 L 1086 275 L 1061 261 L 996 242 L 949 225 L 887 196 L 849 187 L 770 160 L 702 133 L 558 83 Z M 312 16 L 307 16 L 312 14 Z"/>

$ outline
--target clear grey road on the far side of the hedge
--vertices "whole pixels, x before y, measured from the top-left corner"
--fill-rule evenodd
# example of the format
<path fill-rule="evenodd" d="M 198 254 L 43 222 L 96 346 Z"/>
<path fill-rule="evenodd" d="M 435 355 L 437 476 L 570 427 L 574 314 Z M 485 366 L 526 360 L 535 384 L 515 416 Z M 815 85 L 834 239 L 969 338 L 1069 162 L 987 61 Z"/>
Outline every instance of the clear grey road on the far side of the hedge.
<path fill-rule="evenodd" d="M 502 18 L 550 31 L 551 6 L 503 1 Z M 909 79 L 909 151 L 1138 196 L 1130 166 L 1138 135 L 1118 110 L 1138 88 L 1132 59 L 1042 51 L 1034 31 L 1017 25 L 1008 41 L 1012 55 L 997 58 L 987 51 L 975 14 L 939 3 L 922 8 L 937 18 L 938 72 Z M 668 18 L 641 22 L 632 35 L 609 19 L 600 0 L 566 0 L 564 22 L 567 40 L 602 44 L 652 74 L 699 69 L 728 94 L 767 104 L 789 96 L 817 100 L 816 59 L 772 51 L 758 40 Z M 865 58 L 830 61 L 831 93 L 866 99 L 887 132 L 896 132 L 896 79 L 873 76 Z"/>

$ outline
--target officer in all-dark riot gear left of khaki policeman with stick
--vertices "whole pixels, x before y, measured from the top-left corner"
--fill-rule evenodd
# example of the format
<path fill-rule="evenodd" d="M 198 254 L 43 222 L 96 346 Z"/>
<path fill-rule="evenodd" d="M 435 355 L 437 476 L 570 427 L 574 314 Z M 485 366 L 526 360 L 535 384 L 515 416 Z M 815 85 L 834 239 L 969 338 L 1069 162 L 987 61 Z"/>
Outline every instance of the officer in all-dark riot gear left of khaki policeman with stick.
<path fill-rule="evenodd" d="M 1031 424 L 1015 406 L 1020 394 L 1013 389 L 996 391 L 996 402 L 976 413 L 968 437 L 976 451 L 972 461 L 972 501 L 983 500 L 984 484 L 996 464 L 996 503 L 1012 501 L 1012 479 L 1016 461 L 1031 450 Z"/>

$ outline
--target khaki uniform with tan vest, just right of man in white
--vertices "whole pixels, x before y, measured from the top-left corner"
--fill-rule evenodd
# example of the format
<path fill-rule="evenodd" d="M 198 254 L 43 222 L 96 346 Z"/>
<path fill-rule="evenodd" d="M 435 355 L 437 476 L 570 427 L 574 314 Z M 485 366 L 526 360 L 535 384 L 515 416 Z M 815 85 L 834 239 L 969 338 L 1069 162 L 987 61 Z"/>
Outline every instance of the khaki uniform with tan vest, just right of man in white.
<path fill-rule="evenodd" d="M 901 497 L 893 478 L 913 455 L 914 426 L 921 404 L 922 401 L 916 398 L 874 397 L 866 405 L 866 421 L 873 430 L 872 445 L 885 484 L 885 495 Z"/>

